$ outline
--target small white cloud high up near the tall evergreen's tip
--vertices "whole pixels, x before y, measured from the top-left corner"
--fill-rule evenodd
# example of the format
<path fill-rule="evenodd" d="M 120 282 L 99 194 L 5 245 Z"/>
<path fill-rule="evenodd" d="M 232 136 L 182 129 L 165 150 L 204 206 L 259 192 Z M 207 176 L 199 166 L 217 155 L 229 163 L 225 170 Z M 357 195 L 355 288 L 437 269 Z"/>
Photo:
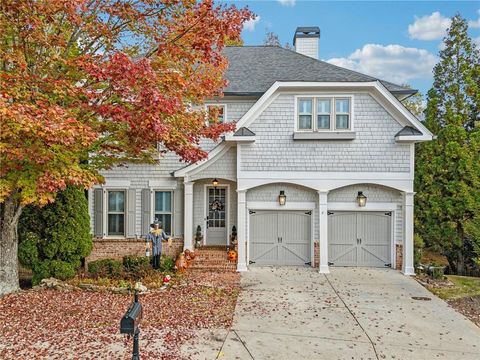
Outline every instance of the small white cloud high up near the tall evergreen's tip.
<path fill-rule="evenodd" d="M 411 39 L 437 40 L 445 36 L 451 20 L 438 11 L 422 17 L 415 16 L 415 22 L 408 25 Z"/>

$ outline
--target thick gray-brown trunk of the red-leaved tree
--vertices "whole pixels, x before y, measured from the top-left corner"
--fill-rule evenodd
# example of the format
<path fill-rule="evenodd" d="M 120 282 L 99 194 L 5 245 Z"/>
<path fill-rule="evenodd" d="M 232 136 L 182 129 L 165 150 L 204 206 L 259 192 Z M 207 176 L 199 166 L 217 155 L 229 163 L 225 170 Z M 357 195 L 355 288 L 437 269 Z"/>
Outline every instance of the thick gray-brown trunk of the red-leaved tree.
<path fill-rule="evenodd" d="M 20 289 L 17 225 L 22 206 L 15 195 L 0 204 L 0 296 Z"/>

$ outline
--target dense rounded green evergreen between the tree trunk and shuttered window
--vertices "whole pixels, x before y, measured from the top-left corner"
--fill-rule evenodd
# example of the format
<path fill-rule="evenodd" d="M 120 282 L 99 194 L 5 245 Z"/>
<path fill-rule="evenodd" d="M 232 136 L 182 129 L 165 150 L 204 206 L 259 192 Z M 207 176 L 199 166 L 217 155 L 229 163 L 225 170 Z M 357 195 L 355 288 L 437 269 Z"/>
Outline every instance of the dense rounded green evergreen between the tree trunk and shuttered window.
<path fill-rule="evenodd" d="M 19 260 L 33 271 L 33 284 L 50 276 L 75 275 L 92 250 L 88 202 L 83 189 L 68 186 L 54 203 L 28 206 L 19 223 Z"/>

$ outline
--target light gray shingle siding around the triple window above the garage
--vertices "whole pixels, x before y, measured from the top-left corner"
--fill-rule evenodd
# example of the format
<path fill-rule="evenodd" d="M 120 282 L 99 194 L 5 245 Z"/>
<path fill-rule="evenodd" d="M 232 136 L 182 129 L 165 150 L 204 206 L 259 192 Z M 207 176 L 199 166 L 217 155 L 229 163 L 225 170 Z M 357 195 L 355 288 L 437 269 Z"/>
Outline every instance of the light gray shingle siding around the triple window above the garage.
<path fill-rule="evenodd" d="M 243 171 L 410 171 L 410 146 L 394 138 L 403 126 L 370 95 L 354 95 L 355 140 L 294 141 L 294 110 L 294 95 L 280 94 L 248 126 L 256 141 L 241 148 Z"/>

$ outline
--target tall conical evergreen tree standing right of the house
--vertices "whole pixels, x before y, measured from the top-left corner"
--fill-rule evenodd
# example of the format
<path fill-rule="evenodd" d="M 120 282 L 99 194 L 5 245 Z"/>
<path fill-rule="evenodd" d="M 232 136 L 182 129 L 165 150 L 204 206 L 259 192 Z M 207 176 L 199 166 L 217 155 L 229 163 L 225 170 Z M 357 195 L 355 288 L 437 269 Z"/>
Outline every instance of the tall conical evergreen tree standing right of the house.
<path fill-rule="evenodd" d="M 437 138 L 418 146 L 415 176 L 416 231 L 459 274 L 480 260 L 480 52 L 467 30 L 452 18 L 427 96 Z"/>

